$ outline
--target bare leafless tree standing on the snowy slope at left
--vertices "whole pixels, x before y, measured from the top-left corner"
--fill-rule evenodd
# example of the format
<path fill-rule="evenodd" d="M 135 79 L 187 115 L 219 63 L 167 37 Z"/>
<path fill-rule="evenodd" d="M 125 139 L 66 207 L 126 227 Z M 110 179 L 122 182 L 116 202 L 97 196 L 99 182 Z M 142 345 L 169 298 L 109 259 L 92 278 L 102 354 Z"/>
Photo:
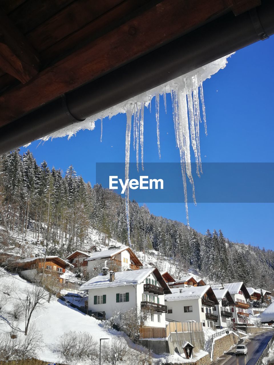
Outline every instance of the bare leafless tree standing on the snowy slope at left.
<path fill-rule="evenodd" d="M 39 285 L 40 284 L 40 285 Z M 33 284 L 31 287 L 28 287 L 24 294 L 26 298 L 19 298 L 24 308 L 25 313 L 25 336 L 28 332 L 28 326 L 30 324 L 31 315 L 33 314 L 35 308 L 43 306 L 47 300 L 48 292 L 46 289 L 41 286 L 41 283 L 37 283 L 37 285 Z"/>

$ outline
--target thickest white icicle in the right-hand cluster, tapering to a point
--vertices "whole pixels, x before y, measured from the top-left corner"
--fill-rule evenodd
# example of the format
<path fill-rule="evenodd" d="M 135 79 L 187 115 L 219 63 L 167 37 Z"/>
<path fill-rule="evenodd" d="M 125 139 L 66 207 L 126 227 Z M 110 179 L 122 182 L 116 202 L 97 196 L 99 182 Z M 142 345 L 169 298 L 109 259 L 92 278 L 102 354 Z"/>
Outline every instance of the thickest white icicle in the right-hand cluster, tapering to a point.
<path fill-rule="evenodd" d="M 196 205 L 194 181 L 191 174 L 190 163 L 190 141 L 189 141 L 189 120 L 187 116 L 186 90 L 182 89 L 178 92 L 178 124 L 177 124 L 178 143 L 183 138 L 181 145 L 184 146 L 184 158 L 186 164 L 186 173 L 192 186 L 192 196 Z M 178 144 L 179 146 L 179 144 Z"/>

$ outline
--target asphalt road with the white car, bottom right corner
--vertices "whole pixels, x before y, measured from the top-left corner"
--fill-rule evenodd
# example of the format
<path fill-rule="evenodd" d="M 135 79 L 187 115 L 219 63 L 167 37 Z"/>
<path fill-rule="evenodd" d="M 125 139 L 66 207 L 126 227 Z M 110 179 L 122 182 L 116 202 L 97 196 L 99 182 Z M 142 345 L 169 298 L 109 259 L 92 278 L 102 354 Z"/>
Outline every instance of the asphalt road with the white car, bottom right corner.
<path fill-rule="evenodd" d="M 222 362 L 224 365 L 255 365 L 262 355 L 271 337 L 274 336 L 274 331 L 262 332 L 250 338 L 250 342 L 246 343 L 247 355 L 235 355 L 235 348 L 227 353 L 229 358 Z M 220 362 L 218 362 L 220 364 Z"/>

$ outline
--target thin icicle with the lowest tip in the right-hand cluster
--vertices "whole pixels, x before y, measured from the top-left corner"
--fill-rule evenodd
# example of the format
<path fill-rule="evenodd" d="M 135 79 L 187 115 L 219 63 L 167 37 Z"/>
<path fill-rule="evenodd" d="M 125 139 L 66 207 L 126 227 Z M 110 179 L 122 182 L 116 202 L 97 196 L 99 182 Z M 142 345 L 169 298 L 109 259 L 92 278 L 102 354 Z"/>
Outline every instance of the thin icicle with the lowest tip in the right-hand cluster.
<path fill-rule="evenodd" d="M 189 226 L 189 208 L 187 206 L 187 186 L 186 186 L 186 159 L 184 155 L 184 138 L 182 135 L 182 128 L 179 128 L 178 131 L 178 101 L 176 97 L 176 92 L 174 89 L 171 90 L 172 96 L 172 112 L 173 112 L 173 120 L 174 120 L 174 128 L 175 128 L 175 138 L 176 138 L 176 145 L 179 147 L 180 151 L 180 162 L 181 162 L 181 170 L 182 170 L 182 177 L 183 177 L 183 187 L 184 187 L 184 206 L 186 209 L 186 221 L 187 227 Z"/>

